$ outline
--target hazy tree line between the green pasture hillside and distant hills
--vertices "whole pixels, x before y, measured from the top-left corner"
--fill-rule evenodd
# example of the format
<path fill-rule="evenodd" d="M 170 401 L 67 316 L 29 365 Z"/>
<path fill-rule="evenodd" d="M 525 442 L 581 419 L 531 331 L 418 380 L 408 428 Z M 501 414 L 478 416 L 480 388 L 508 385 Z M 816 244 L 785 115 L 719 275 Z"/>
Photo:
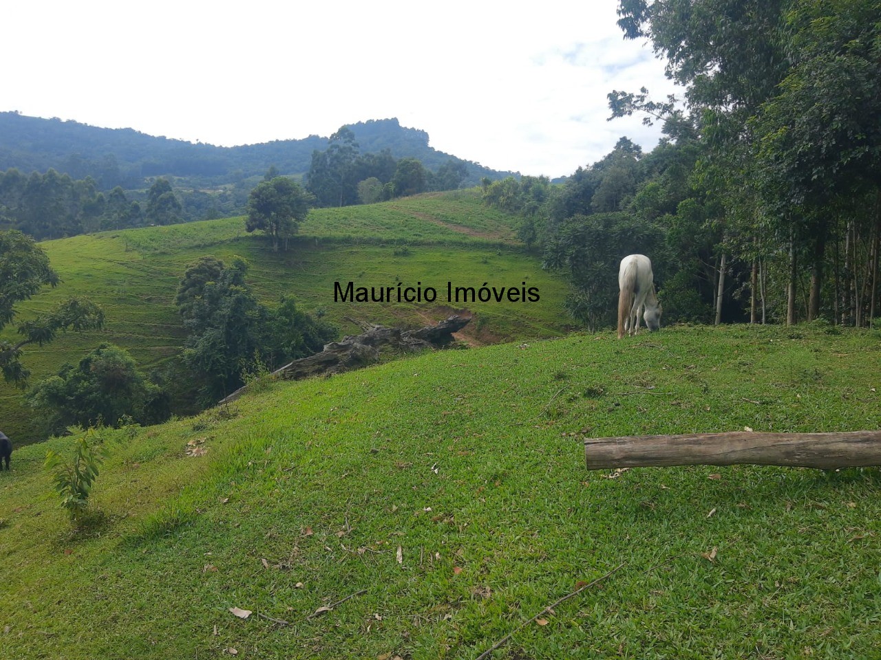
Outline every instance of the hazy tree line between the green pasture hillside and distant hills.
<path fill-rule="evenodd" d="M 341 128 L 327 150 L 312 155 L 306 189 L 312 206 L 348 206 L 381 202 L 403 195 L 459 187 L 468 169 L 450 158 L 437 172 L 416 158 L 396 160 L 389 150 L 361 153 L 352 131 Z M 278 176 L 271 165 L 263 180 Z M 233 216 L 246 211 L 249 190 L 241 185 L 222 192 L 174 188 L 166 178 L 144 190 L 115 187 L 102 192 L 91 177 L 75 180 L 53 169 L 26 175 L 12 168 L 0 172 L 0 229 L 18 230 L 38 240 L 93 231 L 177 224 Z M 259 186 L 259 183 L 257 184 Z"/>

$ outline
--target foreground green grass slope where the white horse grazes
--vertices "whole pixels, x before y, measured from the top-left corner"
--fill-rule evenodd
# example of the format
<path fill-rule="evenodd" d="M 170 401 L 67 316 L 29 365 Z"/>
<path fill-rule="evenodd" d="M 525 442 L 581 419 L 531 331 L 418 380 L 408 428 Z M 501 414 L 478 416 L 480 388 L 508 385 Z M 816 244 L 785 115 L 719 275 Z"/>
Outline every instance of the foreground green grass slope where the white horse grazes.
<path fill-rule="evenodd" d="M 873 657 L 877 469 L 610 479 L 581 440 L 877 429 L 879 373 L 877 333 L 730 326 L 276 383 L 123 438 L 78 533 L 41 469 L 72 440 L 25 447 L 0 474 L 0 656 L 474 658 L 517 631 L 493 657 Z"/>

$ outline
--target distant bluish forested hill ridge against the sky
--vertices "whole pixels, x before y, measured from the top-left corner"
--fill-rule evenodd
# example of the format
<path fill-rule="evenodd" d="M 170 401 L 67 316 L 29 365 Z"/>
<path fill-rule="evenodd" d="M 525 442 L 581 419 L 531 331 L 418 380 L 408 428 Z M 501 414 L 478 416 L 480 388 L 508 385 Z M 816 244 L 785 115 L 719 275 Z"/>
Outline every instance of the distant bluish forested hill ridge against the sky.
<path fill-rule="evenodd" d="M 418 158 L 436 170 L 455 158 L 428 145 L 428 134 L 404 128 L 396 119 L 350 124 L 362 152 L 388 149 L 395 158 Z M 148 136 L 132 128 L 98 128 L 60 119 L 28 117 L 16 112 L 0 113 L 0 172 L 46 172 L 49 168 L 73 179 L 91 176 L 98 187 L 136 188 L 145 177 L 174 176 L 226 183 L 263 175 L 275 165 L 278 172 L 307 172 L 313 150 L 325 150 L 329 139 L 308 136 L 300 140 L 238 147 L 189 143 L 165 136 Z M 496 172 L 468 163 L 466 184 L 482 177 L 500 179 L 511 172 Z"/>

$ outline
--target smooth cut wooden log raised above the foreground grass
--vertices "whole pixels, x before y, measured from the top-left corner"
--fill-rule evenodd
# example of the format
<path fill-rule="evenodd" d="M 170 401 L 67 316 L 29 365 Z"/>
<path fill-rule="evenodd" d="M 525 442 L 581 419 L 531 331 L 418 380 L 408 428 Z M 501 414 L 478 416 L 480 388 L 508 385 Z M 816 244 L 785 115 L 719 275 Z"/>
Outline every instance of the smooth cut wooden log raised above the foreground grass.
<path fill-rule="evenodd" d="M 589 470 L 613 467 L 881 466 L 881 431 L 848 433 L 697 433 L 584 441 Z"/>

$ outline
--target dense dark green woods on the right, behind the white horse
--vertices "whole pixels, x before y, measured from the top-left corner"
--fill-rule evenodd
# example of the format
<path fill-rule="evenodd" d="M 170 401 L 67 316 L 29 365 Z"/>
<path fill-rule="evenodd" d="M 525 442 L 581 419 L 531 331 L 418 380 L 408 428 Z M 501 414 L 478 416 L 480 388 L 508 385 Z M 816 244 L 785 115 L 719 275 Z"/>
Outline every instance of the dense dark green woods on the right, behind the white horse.
<path fill-rule="evenodd" d="M 622 0 L 683 99 L 611 92 L 665 138 L 622 138 L 567 178 L 484 182 L 521 237 L 610 325 L 618 261 L 651 255 L 667 319 L 870 325 L 881 241 L 881 4 Z"/>

